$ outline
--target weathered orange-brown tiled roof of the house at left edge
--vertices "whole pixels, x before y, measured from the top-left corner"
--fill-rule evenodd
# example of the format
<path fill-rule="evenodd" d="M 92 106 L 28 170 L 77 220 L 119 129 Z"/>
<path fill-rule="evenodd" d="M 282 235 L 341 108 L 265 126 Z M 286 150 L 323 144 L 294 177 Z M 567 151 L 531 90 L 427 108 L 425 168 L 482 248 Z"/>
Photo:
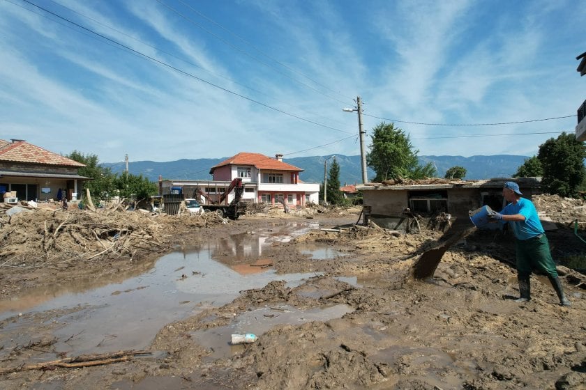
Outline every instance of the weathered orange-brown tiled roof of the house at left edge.
<path fill-rule="evenodd" d="M 31 162 L 34 164 L 85 166 L 81 162 L 68 159 L 52 153 L 49 150 L 39 148 L 26 141 L 8 142 L 0 139 L 0 161 L 7 162 Z"/>

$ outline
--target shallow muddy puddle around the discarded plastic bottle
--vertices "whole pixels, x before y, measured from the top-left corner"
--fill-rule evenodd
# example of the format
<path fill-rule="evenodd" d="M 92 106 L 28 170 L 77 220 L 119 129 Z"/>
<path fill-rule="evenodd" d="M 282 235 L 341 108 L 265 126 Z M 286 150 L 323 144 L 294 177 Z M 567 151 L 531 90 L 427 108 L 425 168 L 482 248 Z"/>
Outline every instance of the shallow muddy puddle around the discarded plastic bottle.
<path fill-rule="evenodd" d="M 211 351 L 207 359 L 223 359 L 239 354 L 245 348 L 244 345 L 230 345 L 231 334 L 253 333 L 257 337 L 262 337 L 264 332 L 275 325 L 299 325 L 310 321 L 327 321 L 340 318 L 352 311 L 354 309 L 345 304 L 308 310 L 299 310 L 288 305 L 275 305 L 247 311 L 232 320 L 230 325 L 195 331 L 192 336 L 198 344 Z"/>

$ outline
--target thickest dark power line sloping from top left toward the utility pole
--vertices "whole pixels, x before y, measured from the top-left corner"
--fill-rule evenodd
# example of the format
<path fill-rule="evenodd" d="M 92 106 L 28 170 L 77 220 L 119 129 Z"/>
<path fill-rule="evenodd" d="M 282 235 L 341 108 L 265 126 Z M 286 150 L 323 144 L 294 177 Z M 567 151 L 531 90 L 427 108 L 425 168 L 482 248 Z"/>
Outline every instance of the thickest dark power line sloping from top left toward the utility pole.
<path fill-rule="evenodd" d="M 77 23 L 75 23 L 75 22 L 73 22 L 71 20 L 68 20 L 66 17 L 62 17 L 61 15 L 57 15 L 57 13 L 54 13 L 54 12 L 52 12 L 50 10 L 47 10 L 47 9 L 41 7 L 41 6 L 38 6 L 37 4 L 32 3 L 29 0 L 22 0 L 22 1 L 24 1 L 25 3 L 29 3 L 29 4 L 31 4 L 31 6 L 35 6 L 36 8 L 39 8 L 40 10 L 43 10 L 46 13 L 50 13 L 51 15 L 54 15 L 55 17 L 59 17 L 59 19 L 65 20 L 66 22 L 69 22 L 70 24 L 73 24 L 73 25 L 79 27 L 80 29 L 84 29 L 85 31 L 89 31 L 90 33 L 96 34 L 96 36 L 99 36 L 100 38 L 103 38 L 105 40 L 108 40 L 108 41 L 114 43 L 115 45 L 118 45 L 119 47 L 122 47 L 123 49 L 126 49 L 126 50 L 128 50 L 128 51 L 130 51 L 130 52 L 132 52 L 134 54 L 137 54 L 138 56 L 142 56 L 145 59 L 149 59 L 150 61 L 153 61 L 153 62 L 158 63 L 160 65 L 166 66 L 167 68 L 170 68 L 172 70 L 175 70 L 176 72 L 179 72 L 179 73 L 181 73 L 183 75 L 186 75 L 188 77 L 192 77 L 193 79 L 196 79 L 198 81 L 202 81 L 205 84 L 208 84 L 208 85 L 213 86 L 215 88 L 221 89 L 222 91 L 225 91 L 227 93 L 231 93 L 232 95 L 238 96 L 239 98 L 246 99 L 246 100 L 248 100 L 250 102 L 253 102 L 255 104 L 259 104 L 262 107 L 266 107 L 268 109 L 272 109 L 273 111 L 280 112 L 281 114 L 284 114 L 284 115 L 287 115 L 287 116 L 291 116 L 292 118 L 296 118 L 296 119 L 299 119 L 299 120 L 303 120 L 304 122 L 307 122 L 307 123 L 312 123 L 313 125 L 325 127 L 327 129 L 334 130 L 336 132 L 350 133 L 350 132 L 348 132 L 346 130 L 340 130 L 340 129 L 337 129 L 336 127 L 331 127 L 331 126 L 328 126 L 328 125 L 324 125 L 323 123 L 318 123 L 318 122 L 315 122 L 314 120 L 306 119 L 306 118 L 303 118 L 301 116 L 298 116 L 298 115 L 295 115 L 295 114 L 291 114 L 291 113 L 289 113 L 287 111 L 283 111 L 283 110 L 278 109 L 276 107 L 272 107 L 269 104 L 264 104 L 262 102 L 259 102 L 258 100 L 254 100 L 253 98 L 248 98 L 248 96 L 241 95 L 240 93 L 236 93 L 234 91 L 230 91 L 230 89 L 224 88 L 223 86 L 218 86 L 217 84 L 213 84 L 211 81 L 207 81 L 205 79 L 202 79 L 201 77 L 197 77 L 197 76 L 195 76 L 195 75 L 193 75 L 193 74 L 191 74 L 189 72 L 186 72 L 185 70 L 181 70 L 179 68 L 176 68 L 173 65 L 170 65 L 168 63 L 165 63 L 164 61 L 160 61 L 160 60 L 155 59 L 155 58 L 153 58 L 151 56 L 148 56 L 147 54 L 144 54 L 142 52 L 139 52 L 139 51 L 137 51 L 137 50 L 135 50 L 135 49 L 133 49 L 131 47 L 128 47 L 126 45 L 123 45 L 122 43 L 117 42 L 116 40 L 113 40 L 111 38 L 108 38 L 107 36 L 103 36 L 102 34 L 97 33 L 96 31 L 93 31 L 91 29 L 88 29 L 87 27 L 84 27 L 81 24 L 77 24 Z"/>

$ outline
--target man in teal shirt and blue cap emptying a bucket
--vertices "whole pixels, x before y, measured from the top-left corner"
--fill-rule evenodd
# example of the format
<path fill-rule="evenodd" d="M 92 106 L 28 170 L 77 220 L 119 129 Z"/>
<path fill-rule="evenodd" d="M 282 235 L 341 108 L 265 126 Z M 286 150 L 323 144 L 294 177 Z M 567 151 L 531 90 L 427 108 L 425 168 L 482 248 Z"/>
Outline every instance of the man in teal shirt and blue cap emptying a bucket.
<path fill-rule="evenodd" d="M 551 258 L 548 237 L 546 237 L 537 210 L 529 199 L 522 198 L 519 185 L 516 182 L 506 182 L 502 189 L 502 196 L 508 204 L 501 212 L 492 212 L 490 219 L 508 222 L 516 240 L 517 279 L 519 281 L 520 298 L 516 302 L 527 302 L 531 299 L 531 272 L 537 268 L 544 272 L 553 286 L 559 302 L 563 306 L 570 306 L 570 301 L 564 295 L 562 283 L 557 277 L 555 263 Z"/>

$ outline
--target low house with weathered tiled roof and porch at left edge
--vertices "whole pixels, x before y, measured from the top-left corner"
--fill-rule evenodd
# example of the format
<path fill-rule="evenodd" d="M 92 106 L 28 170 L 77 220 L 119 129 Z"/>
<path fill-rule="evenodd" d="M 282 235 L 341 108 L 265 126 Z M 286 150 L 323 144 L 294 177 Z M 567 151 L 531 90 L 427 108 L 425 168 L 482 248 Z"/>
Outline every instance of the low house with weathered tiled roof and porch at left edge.
<path fill-rule="evenodd" d="M 81 188 L 84 164 L 20 139 L 0 139 L 0 201 L 71 199 Z"/>

